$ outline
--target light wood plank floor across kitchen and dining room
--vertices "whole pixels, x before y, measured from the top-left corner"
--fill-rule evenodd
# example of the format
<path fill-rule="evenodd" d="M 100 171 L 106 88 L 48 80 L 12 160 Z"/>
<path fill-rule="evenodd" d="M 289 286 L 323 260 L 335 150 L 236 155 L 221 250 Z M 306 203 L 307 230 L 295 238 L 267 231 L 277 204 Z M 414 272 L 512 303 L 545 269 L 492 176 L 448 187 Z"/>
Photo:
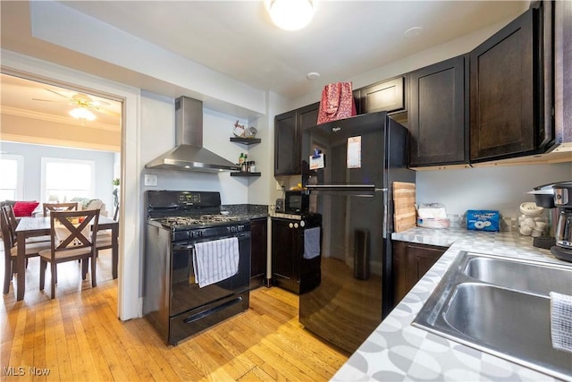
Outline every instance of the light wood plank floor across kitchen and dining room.
<path fill-rule="evenodd" d="M 4 294 L 2 381 L 320 381 L 348 359 L 299 324 L 298 296 L 279 288 L 252 291 L 248 311 L 167 346 L 145 318 L 117 318 L 109 253 L 98 259 L 96 288 L 89 275 L 81 282 L 77 263 L 58 266 L 55 300 L 49 299 L 49 269 L 46 291 L 38 291 L 38 263 L 29 261 L 24 301 L 15 301 L 13 286 Z M 49 375 L 33 376 L 33 368 Z M 7 375 L 11 371 L 24 377 Z"/>

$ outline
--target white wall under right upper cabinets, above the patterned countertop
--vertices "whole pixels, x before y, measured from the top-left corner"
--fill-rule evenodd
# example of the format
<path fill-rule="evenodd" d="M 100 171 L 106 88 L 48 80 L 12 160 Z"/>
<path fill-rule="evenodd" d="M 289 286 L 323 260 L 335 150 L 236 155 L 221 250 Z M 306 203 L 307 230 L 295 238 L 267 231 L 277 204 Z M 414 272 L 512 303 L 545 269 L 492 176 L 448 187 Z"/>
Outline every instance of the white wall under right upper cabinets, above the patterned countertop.
<path fill-rule="evenodd" d="M 516 217 L 520 203 L 534 201 L 527 191 L 570 180 L 571 163 L 418 171 L 416 202 L 443 203 L 447 213 L 454 215 L 467 209 L 494 209 Z"/>

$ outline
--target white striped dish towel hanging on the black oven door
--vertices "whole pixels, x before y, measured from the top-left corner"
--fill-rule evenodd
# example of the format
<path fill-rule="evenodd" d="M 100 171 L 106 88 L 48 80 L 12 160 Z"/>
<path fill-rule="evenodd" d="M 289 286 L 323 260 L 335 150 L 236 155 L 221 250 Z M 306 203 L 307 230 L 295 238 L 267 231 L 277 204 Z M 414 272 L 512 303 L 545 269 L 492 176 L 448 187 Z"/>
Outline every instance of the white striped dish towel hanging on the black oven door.
<path fill-rule="evenodd" d="M 200 288 L 218 283 L 239 271 L 239 239 L 198 242 L 193 253 L 195 280 Z"/>

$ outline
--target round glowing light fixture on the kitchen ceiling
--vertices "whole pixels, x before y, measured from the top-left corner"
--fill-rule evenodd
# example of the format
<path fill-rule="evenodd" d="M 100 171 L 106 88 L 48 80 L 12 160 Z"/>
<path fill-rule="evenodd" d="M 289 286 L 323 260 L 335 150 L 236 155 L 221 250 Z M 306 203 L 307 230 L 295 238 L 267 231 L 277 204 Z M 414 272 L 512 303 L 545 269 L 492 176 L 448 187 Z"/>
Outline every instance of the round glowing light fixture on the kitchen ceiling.
<path fill-rule="evenodd" d="M 301 30 L 312 21 L 311 0 L 273 0 L 268 5 L 270 18 L 282 30 Z"/>

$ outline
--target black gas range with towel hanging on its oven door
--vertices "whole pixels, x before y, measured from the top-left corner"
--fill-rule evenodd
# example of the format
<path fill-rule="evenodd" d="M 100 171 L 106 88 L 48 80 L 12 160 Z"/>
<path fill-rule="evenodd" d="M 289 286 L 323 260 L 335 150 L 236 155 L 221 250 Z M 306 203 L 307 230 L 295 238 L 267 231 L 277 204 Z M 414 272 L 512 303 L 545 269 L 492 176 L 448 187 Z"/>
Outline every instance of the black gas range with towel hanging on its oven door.
<path fill-rule="evenodd" d="M 146 208 L 143 310 L 166 342 L 178 344 L 248 310 L 248 219 L 222 214 L 220 193 L 211 191 L 147 191 Z M 212 242 L 213 248 L 219 248 L 219 243 L 225 246 L 233 240 L 238 247 L 236 273 L 199 286 L 195 279 L 197 247 Z M 213 252 L 214 258 L 221 255 Z"/>

